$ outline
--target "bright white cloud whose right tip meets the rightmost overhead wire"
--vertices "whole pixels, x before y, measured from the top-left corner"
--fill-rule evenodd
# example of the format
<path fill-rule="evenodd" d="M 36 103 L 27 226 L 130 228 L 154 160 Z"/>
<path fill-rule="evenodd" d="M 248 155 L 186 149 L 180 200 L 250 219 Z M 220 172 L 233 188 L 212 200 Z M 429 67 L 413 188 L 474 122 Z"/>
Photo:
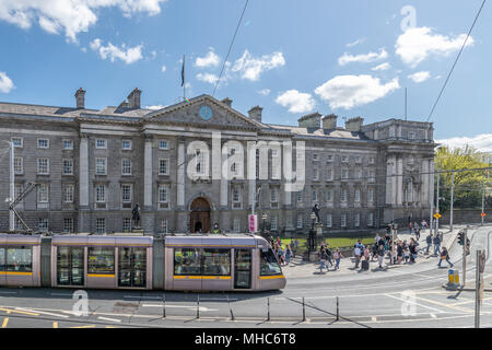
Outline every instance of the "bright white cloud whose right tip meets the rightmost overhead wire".
<path fill-rule="evenodd" d="M 466 34 L 460 34 L 455 38 L 433 34 L 432 28 L 414 27 L 407 30 L 401 34 L 397 43 L 396 54 L 401 58 L 403 63 L 414 68 L 430 56 L 449 56 L 452 52 L 461 48 Z M 467 45 L 473 44 L 473 38 L 468 38 Z"/>

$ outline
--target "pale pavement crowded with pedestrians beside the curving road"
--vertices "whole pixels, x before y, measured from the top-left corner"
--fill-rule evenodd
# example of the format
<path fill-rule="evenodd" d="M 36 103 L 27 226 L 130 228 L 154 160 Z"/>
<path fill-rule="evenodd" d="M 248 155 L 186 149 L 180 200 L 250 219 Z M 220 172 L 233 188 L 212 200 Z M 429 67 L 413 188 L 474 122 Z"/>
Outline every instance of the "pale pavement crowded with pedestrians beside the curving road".
<path fill-rule="evenodd" d="M 440 232 L 443 233 L 443 243 L 441 244 L 441 246 L 442 247 L 445 246 L 448 249 L 450 249 L 454 242 L 456 241 L 458 232 L 464 228 L 465 228 L 465 225 L 454 225 L 454 228 L 453 228 L 454 230 L 453 230 L 453 232 L 450 232 L 448 226 L 441 226 Z M 383 270 L 400 269 L 400 268 L 405 268 L 407 266 L 414 266 L 414 265 L 422 264 L 424 261 L 429 261 L 430 259 L 435 259 L 437 262 L 438 261 L 437 257 L 433 256 L 432 254 L 426 255 L 424 252 L 427 246 L 427 244 L 425 243 L 425 237 L 427 236 L 427 234 L 429 234 L 429 230 L 425 230 L 424 232 L 421 231 L 421 235 L 420 235 L 420 240 L 419 240 L 419 248 L 420 248 L 419 257 L 417 258 L 415 262 L 413 262 L 413 264 L 402 262 L 401 265 L 391 265 L 391 264 L 389 264 L 389 257 L 385 257 Z M 411 237 L 414 238 L 415 235 L 409 234 L 408 231 L 406 230 L 405 232 L 398 233 L 396 240 L 410 242 Z M 329 240 L 327 240 L 327 242 L 329 243 Z M 355 242 L 356 242 L 356 240 L 354 240 L 354 244 L 355 244 Z M 431 246 L 430 252 L 432 253 L 433 250 L 434 250 L 434 247 Z M 453 260 L 453 257 L 452 257 L 452 260 Z M 377 259 L 370 260 L 370 262 L 371 262 L 371 265 L 370 265 L 371 271 L 380 270 L 378 267 L 378 264 L 377 264 Z M 344 275 L 359 275 L 359 273 L 367 272 L 367 271 L 361 270 L 361 264 L 359 265 L 359 269 L 355 269 L 354 266 L 355 266 L 355 262 L 354 262 L 353 257 L 344 256 L 340 260 L 340 269 L 339 270 L 333 270 L 333 268 L 330 267 L 329 271 L 326 271 L 326 269 L 324 269 L 324 272 L 321 273 L 319 271 L 319 260 L 316 262 L 304 261 L 302 259 L 302 257 L 300 255 L 297 255 L 295 258 L 293 258 L 291 260 L 291 262 L 289 265 L 282 266 L 282 271 L 288 279 L 289 278 L 312 277 L 313 275 L 344 276 Z"/>

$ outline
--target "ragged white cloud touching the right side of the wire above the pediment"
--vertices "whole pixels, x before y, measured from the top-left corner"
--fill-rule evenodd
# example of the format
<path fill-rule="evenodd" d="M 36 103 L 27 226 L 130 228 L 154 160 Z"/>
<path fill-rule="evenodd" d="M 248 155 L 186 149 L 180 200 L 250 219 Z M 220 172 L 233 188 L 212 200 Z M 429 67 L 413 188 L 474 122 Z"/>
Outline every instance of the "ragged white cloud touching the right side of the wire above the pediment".
<path fill-rule="evenodd" d="M 258 81 L 261 73 L 282 66 L 285 66 L 282 52 L 254 58 L 248 50 L 245 50 L 243 56 L 234 62 L 231 71 L 239 73 L 242 79 Z"/>

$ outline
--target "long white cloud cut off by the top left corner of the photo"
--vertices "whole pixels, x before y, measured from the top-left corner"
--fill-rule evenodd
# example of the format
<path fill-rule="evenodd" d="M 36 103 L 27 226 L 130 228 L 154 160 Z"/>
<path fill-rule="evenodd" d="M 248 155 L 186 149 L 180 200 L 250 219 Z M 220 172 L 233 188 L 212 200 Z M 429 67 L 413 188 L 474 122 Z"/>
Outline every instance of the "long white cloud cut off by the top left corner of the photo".
<path fill-rule="evenodd" d="M 166 0 L 1 0 L 0 20 L 28 30 L 33 23 L 51 34 L 65 32 L 71 40 L 97 22 L 101 8 L 119 8 L 125 16 L 144 12 L 155 15 Z"/>

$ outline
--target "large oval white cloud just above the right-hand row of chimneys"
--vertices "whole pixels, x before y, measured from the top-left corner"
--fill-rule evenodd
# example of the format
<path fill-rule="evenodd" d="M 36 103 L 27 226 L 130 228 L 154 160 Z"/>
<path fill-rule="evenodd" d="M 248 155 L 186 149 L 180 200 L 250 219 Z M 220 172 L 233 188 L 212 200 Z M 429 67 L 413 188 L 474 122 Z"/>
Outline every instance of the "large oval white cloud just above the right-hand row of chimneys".
<path fill-rule="evenodd" d="M 382 84 L 372 75 L 338 75 L 316 88 L 315 93 L 328 102 L 330 108 L 350 109 L 383 98 L 399 88 L 398 78 Z"/>

